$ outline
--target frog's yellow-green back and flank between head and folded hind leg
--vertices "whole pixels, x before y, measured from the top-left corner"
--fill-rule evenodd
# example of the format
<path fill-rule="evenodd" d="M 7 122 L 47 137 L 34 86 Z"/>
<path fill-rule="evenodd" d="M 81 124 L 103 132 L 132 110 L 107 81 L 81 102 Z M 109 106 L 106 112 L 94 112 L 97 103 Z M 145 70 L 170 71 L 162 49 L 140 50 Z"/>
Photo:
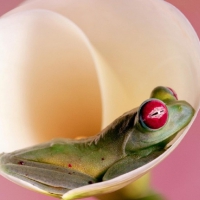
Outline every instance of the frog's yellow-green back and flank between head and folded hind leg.
<path fill-rule="evenodd" d="M 113 163 L 126 156 L 125 141 L 129 134 L 127 118 L 130 118 L 130 122 L 133 117 L 127 115 L 125 118 L 118 118 L 95 137 L 52 140 L 41 148 L 36 146 L 25 153 L 20 152 L 20 157 L 27 160 L 37 158 L 40 163 L 70 168 L 101 179 Z"/>

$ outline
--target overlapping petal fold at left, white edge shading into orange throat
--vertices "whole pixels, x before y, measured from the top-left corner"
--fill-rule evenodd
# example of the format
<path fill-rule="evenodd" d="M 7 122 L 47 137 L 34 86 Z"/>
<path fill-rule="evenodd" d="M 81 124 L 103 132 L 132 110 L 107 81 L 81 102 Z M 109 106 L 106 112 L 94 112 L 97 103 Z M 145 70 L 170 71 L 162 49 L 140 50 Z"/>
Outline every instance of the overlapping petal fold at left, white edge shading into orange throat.
<path fill-rule="evenodd" d="M 0 152 L 97 133 L 99 83 L 79 28 L 35 10 L 1 19 L 0 30 Z"/>

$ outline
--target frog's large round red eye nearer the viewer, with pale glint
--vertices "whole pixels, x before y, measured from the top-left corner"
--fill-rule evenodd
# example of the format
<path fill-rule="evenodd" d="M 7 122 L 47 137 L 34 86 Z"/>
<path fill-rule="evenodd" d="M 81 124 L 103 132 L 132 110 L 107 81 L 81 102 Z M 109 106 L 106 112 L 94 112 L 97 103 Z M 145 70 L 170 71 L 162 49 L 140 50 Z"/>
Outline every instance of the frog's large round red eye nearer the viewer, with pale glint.
<path fill-rule="evenodd" d="M 141 125 L 149 129 L 162 128 L 168 119 L 168 109 L 164 102 L 158 99 L 145 101 L 139 111 Z"/>

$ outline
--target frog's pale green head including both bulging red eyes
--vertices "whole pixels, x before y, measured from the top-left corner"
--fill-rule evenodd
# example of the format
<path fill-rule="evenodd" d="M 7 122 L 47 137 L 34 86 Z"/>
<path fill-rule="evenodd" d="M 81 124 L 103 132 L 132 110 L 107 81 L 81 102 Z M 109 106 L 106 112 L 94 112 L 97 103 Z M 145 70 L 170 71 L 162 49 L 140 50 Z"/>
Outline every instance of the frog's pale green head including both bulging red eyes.
<path fill-rule="evenodd" d="M 194 112 L 189 103 L 178 100 L 173 89 L 156 87 L 137 110 L 126 150 L 166 145 L 191 121 Z"/>

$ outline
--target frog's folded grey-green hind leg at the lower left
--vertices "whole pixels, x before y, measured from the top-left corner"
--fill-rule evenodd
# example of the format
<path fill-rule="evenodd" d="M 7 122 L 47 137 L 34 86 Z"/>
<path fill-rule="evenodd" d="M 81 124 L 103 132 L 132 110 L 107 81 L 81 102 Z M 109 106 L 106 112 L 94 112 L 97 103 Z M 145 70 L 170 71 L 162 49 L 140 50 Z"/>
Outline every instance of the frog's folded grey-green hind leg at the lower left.
<path fill-rule="evenodd" d="M 93 177 L 76 170 L 21 159 L 13 154 L 1 156 L 0 170 L 55 196 L 61 196 L 70 189 L 97 182 Z"/>

